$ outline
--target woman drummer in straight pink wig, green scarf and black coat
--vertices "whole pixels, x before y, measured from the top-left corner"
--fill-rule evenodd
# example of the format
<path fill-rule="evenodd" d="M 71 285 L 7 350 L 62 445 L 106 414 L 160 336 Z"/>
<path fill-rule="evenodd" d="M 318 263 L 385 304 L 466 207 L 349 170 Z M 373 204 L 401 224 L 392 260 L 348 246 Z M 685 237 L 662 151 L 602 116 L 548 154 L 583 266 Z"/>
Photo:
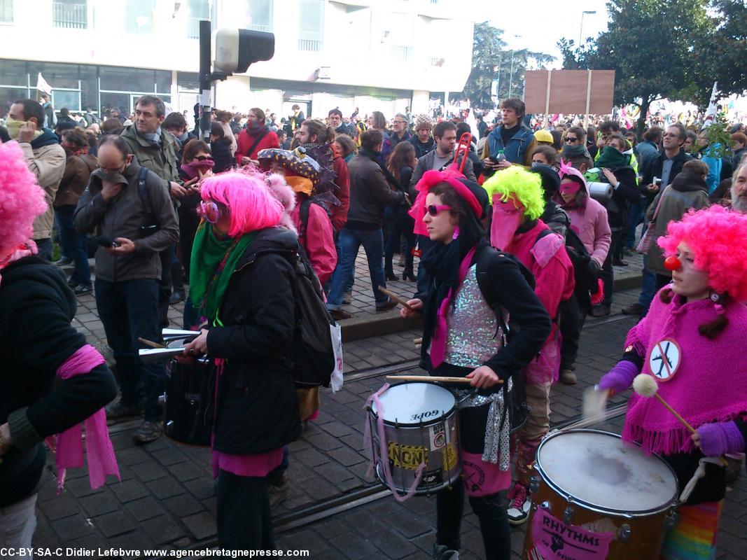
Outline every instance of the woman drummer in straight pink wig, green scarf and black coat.
<path fill-rule="evenodd" d="M 294 342 L 294 231 L 264 175 L 233 171 L 200 187 L 202 214 L 190 262 L 190 299 L 207 324 L 186 360 L 215 361 L 212 464 L 218 543 L 224 550 L 275 547 L 267 476 L 301 434 L 288 347 Z M 285 473 L 282 472 L 282 475 Z"/>

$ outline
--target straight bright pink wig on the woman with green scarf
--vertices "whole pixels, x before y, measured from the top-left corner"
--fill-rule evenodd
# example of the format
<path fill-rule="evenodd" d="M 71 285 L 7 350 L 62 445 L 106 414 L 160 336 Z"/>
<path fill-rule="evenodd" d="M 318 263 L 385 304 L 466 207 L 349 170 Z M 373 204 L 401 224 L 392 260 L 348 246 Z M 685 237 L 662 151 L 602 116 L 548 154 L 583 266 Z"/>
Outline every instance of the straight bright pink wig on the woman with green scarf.
<path fill-rule="evenodd" d="M 281 202 L 267 188 L 264 175 L 251 169 L 208 177 L 199 190 L 203 200 L 219 202 L 229 208 L 231 237 L 275 227 L 284 213 Z"/>

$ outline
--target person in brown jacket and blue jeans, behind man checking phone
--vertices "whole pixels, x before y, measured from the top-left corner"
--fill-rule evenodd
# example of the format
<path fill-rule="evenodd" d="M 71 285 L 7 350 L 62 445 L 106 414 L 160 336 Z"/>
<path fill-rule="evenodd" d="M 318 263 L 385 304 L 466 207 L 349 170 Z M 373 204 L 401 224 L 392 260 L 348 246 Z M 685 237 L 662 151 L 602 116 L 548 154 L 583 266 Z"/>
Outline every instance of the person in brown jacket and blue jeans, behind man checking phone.
<path fill-rule="evenodd" d="M 75 264 L 75 269 L 68 281 L 75 295 L 88 293 L 91 286 L 91 274 L 88 267 L 87 237 L 75 231 L 72 216 L 78 199 L 88 184 L 88 178 L 96 167 L 96 158 L 88 153 L 88 142 L 81 131 L 68 130 L 62 134 L 62 147 L 67 154 L 65 173 L 62 175 L 60 188 L 55 197 L 55 217 L 60 228 L 60 245 L 62 252 Z M 58 264 L 66 264 L 65 259 Z"/>

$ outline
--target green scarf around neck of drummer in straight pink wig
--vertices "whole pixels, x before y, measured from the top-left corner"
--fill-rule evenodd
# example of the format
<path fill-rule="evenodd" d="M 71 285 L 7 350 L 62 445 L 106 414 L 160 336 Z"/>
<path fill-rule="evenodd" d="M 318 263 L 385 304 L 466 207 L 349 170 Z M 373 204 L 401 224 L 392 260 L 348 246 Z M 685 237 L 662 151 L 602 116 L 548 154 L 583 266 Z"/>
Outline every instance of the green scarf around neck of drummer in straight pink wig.
<path fill-rule="evenodd" d="M 189 269 L 189 295 L 195 308 L 212 323 L 217 320 L 236 263 L 254 236 L 255 231 L 251 231 L 241 237 L 219 239 L 205 220 L 197 228 Z"/>

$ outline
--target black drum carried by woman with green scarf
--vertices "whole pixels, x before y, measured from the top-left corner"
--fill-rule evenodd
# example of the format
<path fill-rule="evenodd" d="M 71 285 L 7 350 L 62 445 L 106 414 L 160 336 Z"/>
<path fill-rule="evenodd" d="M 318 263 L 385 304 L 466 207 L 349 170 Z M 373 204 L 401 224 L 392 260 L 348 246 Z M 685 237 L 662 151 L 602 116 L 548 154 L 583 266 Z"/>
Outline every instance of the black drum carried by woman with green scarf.
<path fill-rule="evenodd" d="M 184 340 L 170 340 L 167 346 L 184 346 Z M 182 444 L 209 446 L 213 429 L 211 402 L 213 361 L 197 358 L 193 364 L 172 359 L 166 367 L 164 434 Z"/>

